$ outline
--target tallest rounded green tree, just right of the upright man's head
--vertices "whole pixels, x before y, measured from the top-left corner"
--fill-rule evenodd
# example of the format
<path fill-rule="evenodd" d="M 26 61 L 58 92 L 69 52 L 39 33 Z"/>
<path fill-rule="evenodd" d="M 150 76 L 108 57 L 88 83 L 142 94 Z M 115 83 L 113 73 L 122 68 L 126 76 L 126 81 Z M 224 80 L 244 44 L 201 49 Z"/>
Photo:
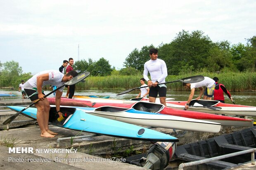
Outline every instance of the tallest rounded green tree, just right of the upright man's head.
<path fill-rule="evenodd" d="M 178 75 L 185 65 L 192 71 L 208 66 L 206 58 L 212 46 L 211 39 L 204 32 L 196 30 L 190 34 L 183 30 L 170 44 L 161 47 L 161 58 L 166 62 L 168 74 Z"/>

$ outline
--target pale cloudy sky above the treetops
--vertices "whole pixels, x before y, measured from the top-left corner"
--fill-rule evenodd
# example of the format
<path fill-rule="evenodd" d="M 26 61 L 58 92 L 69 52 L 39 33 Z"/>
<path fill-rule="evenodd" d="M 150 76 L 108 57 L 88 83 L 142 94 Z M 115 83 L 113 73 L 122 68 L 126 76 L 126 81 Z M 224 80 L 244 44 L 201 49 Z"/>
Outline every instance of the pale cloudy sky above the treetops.
<path fill-rule="evenodd" d="M 103 57 L 121 69 L 135 48 L 170 43 L 182 30 L 246 44 L 255 9 L 256 0 L 0 0 L 0 62 L 36 74 L 70 57 Z"/>

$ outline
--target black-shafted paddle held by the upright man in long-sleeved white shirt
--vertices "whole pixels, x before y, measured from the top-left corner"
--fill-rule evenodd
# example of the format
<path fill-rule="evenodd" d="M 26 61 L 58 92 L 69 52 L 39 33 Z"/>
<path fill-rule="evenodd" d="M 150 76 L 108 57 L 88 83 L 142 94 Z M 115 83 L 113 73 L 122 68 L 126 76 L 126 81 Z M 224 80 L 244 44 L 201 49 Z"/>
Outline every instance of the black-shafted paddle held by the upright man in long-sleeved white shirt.
<path fill-rule="evenodd" d="M 171 82 L 159 83 L 158 85 L 160 85 L 160 84 L 167 84 L 167 83 L 174 83 L 174 82 L 196 83 L 196 82 L 201 82 L 203 80 L 204 80 L 204 76 L 198 75 L 198 76 L 186 77 L 186 78 L 175 80 L 175 81 L 171 81 Z M 148 87 L 148 86 L 131 88 L 131 89 L 128 89 L 126 91 L 122 91 L 121 93 L 118 93 L 117 95 L 129 93 L 130 91 L 133 91 L 135 89 L 140 89 L 140 88 L 145 88 L 145 87 Z"/>

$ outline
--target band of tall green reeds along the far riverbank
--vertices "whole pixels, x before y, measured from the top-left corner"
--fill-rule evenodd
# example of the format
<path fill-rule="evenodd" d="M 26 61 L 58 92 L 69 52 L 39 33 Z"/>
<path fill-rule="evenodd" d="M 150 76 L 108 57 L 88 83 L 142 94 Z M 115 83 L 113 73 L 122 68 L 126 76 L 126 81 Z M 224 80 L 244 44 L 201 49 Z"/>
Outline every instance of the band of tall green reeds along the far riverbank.
<path fill-rule="evenodd" d="M 229 91 L 247 91 L 256 90 L 256 73 L 255 72 L 194 72 L 183 73 L 181 75 L 168 75 L 166 82 L 182 79 L 185 77 L 203 75 L 210 78 L 218 77 L 219 83 L 224 84 Z M 76 85 L 76 89 L 99 89 L 99 90 L 126 90 L 140 86 L 140 79 L 143 76 L 106 76 L 106 77 L 87 77 L 85 82 Z M 182 91 L 185 90 L 181 82 L 166 84 L 168 90 Z"/>

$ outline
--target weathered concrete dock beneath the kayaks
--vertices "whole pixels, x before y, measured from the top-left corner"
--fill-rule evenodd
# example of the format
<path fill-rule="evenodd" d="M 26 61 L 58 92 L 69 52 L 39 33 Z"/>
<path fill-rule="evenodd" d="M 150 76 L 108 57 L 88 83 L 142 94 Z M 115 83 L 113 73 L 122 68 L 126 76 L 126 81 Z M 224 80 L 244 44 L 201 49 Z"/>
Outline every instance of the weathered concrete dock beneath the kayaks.
<path fill-rule="evenodd" d="M 0 105 L 10 105 L 10 103 L 0 101 Z M 27 105 L 26 100 L 17 105 Z M 28 101 L 29 102 L 29 101 Z M 12 102 L 15 105 L 16 102 Z M 28 103 L 30 104 L 30 102 Z M 5 108 L 6 109 L 6 108 Z M 2 110 L 2 109 L 1 109 Z M 59 133 L 53 138 L 40 137 L 40 129 L 36 121 L 33 121 L 25 116 L 19 115 L 17 119 L 11 123 L 9 130 L 6 130 L 6 125 L 1 125 L 10 115 L 15 112 L 5 110 L 0 112 L 0 170 L 13 169 L 86 169 L 86 170 L 113 170 L 113 169 L 145 169 L 136 165 L 122 163 L 122 158 L 115 158 L 116 151 L 125 151 L 127 148 L 134 146 L 136 150 L 147 149 L 152 145 L 151 142 L 127 140 L 113 138 L 109 136 L 91 136 L 78 139 L 65 139 L 66 137 L 87 136 L 90 133 L 78 132 L 74 130 L 64 129 L 57 126 L 49 126 L 50 130 Z M 17 121 L 18 120 L 18 121 Z M 17 125 L 21 123 L 22 125 Z M 17 128 L 20 126 L 28 126 L 25 128 Z M 192 131 L 182 131 L 164 128 L 154 128 L 154 130 L 163 133 L 171 134 L 178 137 L 180 142 L 178 145 L 195 142 L 197 140 L 207 139 L 210 137 L 223 135 L 224 133 L 232 133 L 237 130 L 242 130 L 244 127 L 223 127 L 219 133 L 200 133 Z M 64 140 L 62 140 L 64 139 Z M 33 148 L 33 153 L 13 153 L 9 151 L 6 144 L 15 144 L 14 147 Z M 4 145 L 5 144 L 5 145 Z M 63 150 L 64 149 L 64 150 Z M 77 149 L 72 153 L 66 153 L 65 149 Z M 46 152 L 50 153 L 46 153 Z M 10 153 L 9 153 L 10 152 Z M 104 156 L 104 158 L 102 158 Z M 244 170 L 256 169 L 256 166 L 241 165 Z M 234 167 L 232 170 L 236 170 Z M 249 170 L 248 169 L 248 170 Z"/>

